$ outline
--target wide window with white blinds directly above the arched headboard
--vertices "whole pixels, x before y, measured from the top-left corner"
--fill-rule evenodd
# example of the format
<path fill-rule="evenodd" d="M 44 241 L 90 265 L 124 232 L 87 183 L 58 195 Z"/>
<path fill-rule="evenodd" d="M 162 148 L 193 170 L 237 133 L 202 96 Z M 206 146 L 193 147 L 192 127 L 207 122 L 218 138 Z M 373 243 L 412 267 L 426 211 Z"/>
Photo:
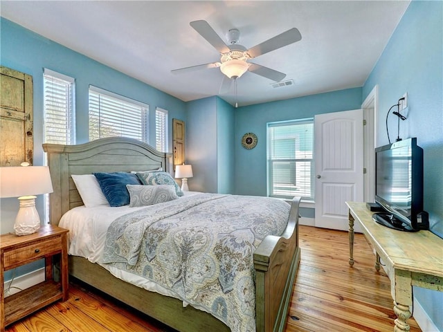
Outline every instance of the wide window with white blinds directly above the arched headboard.
<path fill-rule="evenodd" d="M 149 106 L 89 86 L 89 140 L 111 136 L 149 142 Z"/>

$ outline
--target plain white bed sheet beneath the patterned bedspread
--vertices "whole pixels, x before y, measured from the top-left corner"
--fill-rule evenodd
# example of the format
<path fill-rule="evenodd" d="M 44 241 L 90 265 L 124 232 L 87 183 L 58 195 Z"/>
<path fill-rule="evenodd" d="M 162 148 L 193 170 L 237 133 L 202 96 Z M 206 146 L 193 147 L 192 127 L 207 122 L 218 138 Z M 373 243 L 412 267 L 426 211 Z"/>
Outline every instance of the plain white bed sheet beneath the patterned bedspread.
<path fill-rule="evenodd" d="M 194 194 L 199 194 L 199 192 L 184 192 L 183 197 Z M 134 284 L 135 286 L 145 288 L 147 291 L 154 291 L 161 295 L 180 298 L 179 295 L 173 291 L 148 279 L 124 270 L 119 270 L 108 264 L 100 264 L 109 225 L 119 216 L 143 208 L 147 207 L 129 208 L 129 205 L 125 205 L 118 208 L 111 208 L 107 205 L 102 205 L 86 208 L 82 205 L 69 210 L 62 216 L 59 223 L 60 227 L 69 230 L 68 253 L 69 255 L 87 258 L 92 263 L 99 264 L 108 270 L 114 277 Z M 187 305 L 186 302 L 183 302 L 183 306 Z M 202 310 L 203 308 L 200 309 Z"/>

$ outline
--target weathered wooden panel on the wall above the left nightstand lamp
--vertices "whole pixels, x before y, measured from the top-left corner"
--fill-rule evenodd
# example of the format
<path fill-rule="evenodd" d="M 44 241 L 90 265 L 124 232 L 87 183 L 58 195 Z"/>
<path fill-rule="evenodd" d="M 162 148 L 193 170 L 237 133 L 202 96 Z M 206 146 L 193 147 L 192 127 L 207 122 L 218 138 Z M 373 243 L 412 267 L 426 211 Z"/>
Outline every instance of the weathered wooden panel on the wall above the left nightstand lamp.
<path fill-rule="evenodd" d="M 1 66 L 0 166 L 33 164 L 33 77 Z"/>

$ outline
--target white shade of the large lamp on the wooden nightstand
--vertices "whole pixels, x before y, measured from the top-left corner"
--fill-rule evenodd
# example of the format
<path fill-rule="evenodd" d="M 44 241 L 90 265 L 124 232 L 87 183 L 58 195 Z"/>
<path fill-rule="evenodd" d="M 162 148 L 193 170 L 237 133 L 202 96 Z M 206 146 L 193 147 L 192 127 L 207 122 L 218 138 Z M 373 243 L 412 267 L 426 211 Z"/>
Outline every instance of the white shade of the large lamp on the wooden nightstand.
<path fill-rule="evenodd" d="M 0 167 L 0 197 L 20 197 L 53 192 L 47 166 Z"/>

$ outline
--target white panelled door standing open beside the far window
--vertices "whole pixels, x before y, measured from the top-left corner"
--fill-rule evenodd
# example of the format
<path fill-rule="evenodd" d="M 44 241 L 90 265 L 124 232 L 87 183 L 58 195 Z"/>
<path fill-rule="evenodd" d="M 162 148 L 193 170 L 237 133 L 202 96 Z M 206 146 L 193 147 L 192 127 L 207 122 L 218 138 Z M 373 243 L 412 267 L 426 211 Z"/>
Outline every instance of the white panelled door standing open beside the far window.
<path fill-rule="evenodd" d="M 363 111 L 314 120 L 316 227 L 347 230 L 345 201 L 363 201 Z"/>

